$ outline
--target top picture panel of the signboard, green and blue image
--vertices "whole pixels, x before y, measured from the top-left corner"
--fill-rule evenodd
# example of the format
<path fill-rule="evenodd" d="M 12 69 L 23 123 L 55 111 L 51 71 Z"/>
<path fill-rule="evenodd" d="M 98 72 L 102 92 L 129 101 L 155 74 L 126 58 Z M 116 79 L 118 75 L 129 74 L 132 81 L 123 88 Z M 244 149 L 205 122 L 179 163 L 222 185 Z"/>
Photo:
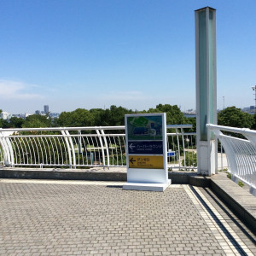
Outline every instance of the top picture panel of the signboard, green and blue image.
<path fill-rule="evenodd" d="M 128 140 L 162 140 L 163 119 L 161 115 L 138 115 L 127 117 Z"/>

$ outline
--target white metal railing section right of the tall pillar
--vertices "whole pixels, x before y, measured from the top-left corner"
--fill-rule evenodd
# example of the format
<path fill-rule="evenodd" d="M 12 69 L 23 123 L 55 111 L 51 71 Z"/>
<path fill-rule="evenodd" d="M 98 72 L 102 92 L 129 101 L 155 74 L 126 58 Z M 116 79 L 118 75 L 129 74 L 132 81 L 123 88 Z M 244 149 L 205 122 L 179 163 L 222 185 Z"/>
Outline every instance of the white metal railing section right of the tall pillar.
<path fill-rule="evenodd" d="M 256 195 L 256 131 L 210 124 L 207 127 L 224 148 L 232 179 L 246 183 Z"/>

